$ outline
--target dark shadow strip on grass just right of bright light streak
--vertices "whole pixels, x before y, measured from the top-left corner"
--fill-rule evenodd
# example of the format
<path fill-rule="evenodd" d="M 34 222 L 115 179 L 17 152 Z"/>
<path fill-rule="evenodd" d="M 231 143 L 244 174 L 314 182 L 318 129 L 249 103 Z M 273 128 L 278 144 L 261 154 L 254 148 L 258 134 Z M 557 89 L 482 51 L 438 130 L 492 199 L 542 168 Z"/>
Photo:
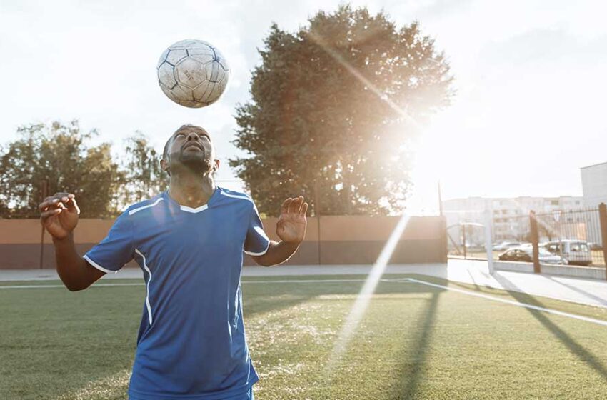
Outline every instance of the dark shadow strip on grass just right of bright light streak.
<path fill-rule="evenodd" d="M 428 290 L 426 289 L 426 291 Z M 428 359 L 428 348 L 432 341 L 433 323 L 436 319 L 440 292 L 440 290 L 434 291 L 421 312 L 418 323 L 415 325 L 418 326 L 418 329 L 413 333 L 415 336 L 413 344 L 401 354 L 403 363 L 398 368 L 396 375 L 398 384 L 394 387 L 389 399 L 412 399 L 418 391 L 423 379 L 423 369 Z"/>

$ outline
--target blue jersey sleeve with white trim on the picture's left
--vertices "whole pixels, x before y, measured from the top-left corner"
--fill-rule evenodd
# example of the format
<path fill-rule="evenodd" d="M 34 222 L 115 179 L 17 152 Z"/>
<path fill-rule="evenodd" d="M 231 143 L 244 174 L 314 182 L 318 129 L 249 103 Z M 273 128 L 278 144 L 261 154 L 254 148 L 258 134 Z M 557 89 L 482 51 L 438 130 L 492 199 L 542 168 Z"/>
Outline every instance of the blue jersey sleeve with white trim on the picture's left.
<path fill-rule="evenodd" d="M 104 240 L 84 254 L 84 259 L 104 272 L 118 272 L 133 259 L 134 241 L 129 212 L 121 214 Z"/>

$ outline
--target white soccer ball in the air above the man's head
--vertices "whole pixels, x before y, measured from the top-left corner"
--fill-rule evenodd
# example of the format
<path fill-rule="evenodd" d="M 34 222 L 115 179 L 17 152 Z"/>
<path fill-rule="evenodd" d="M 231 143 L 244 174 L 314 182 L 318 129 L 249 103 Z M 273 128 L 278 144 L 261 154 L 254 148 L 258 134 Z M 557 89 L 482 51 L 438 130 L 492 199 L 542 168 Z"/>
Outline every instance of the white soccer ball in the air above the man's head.
<path fill-rule="evenodd" d="M 219 50 L 196 39 L 171 44 L 160 56 L 156 69 L 164 94 L 177 104 L 196 109 L 217 101 L 230 76 Z"/>

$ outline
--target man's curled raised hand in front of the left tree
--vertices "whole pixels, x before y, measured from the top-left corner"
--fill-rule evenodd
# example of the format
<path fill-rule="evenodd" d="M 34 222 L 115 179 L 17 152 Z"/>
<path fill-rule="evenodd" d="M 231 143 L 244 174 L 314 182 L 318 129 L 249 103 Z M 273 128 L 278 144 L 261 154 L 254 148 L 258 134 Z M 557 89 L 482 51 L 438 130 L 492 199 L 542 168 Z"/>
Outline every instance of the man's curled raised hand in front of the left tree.
<path fill-rule="evenodd" d="M 55 239 L 64 239 L 78 224 L 80 209 L 74 194 L 56 193 L 44 199 L 39 209 L 42 226 Z"/>

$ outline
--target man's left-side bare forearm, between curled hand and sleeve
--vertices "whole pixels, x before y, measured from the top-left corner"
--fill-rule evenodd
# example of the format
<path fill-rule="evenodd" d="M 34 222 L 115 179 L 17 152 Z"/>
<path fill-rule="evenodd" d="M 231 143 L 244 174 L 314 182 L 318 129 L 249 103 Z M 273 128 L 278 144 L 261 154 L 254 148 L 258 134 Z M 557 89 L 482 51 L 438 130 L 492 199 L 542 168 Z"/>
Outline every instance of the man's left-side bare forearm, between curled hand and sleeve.
<path fill-rule="evenodd" d="M 103 276 L 101 271 L 99 274 L 91 271 L 86 260 L 78 254 L 76 244 L 74 244 L 74 234 L 69 234 L 63 239 L 54 238 L 53 244 L 57 274 L 67 289 L 71 291 L 86 289 Z"/>

